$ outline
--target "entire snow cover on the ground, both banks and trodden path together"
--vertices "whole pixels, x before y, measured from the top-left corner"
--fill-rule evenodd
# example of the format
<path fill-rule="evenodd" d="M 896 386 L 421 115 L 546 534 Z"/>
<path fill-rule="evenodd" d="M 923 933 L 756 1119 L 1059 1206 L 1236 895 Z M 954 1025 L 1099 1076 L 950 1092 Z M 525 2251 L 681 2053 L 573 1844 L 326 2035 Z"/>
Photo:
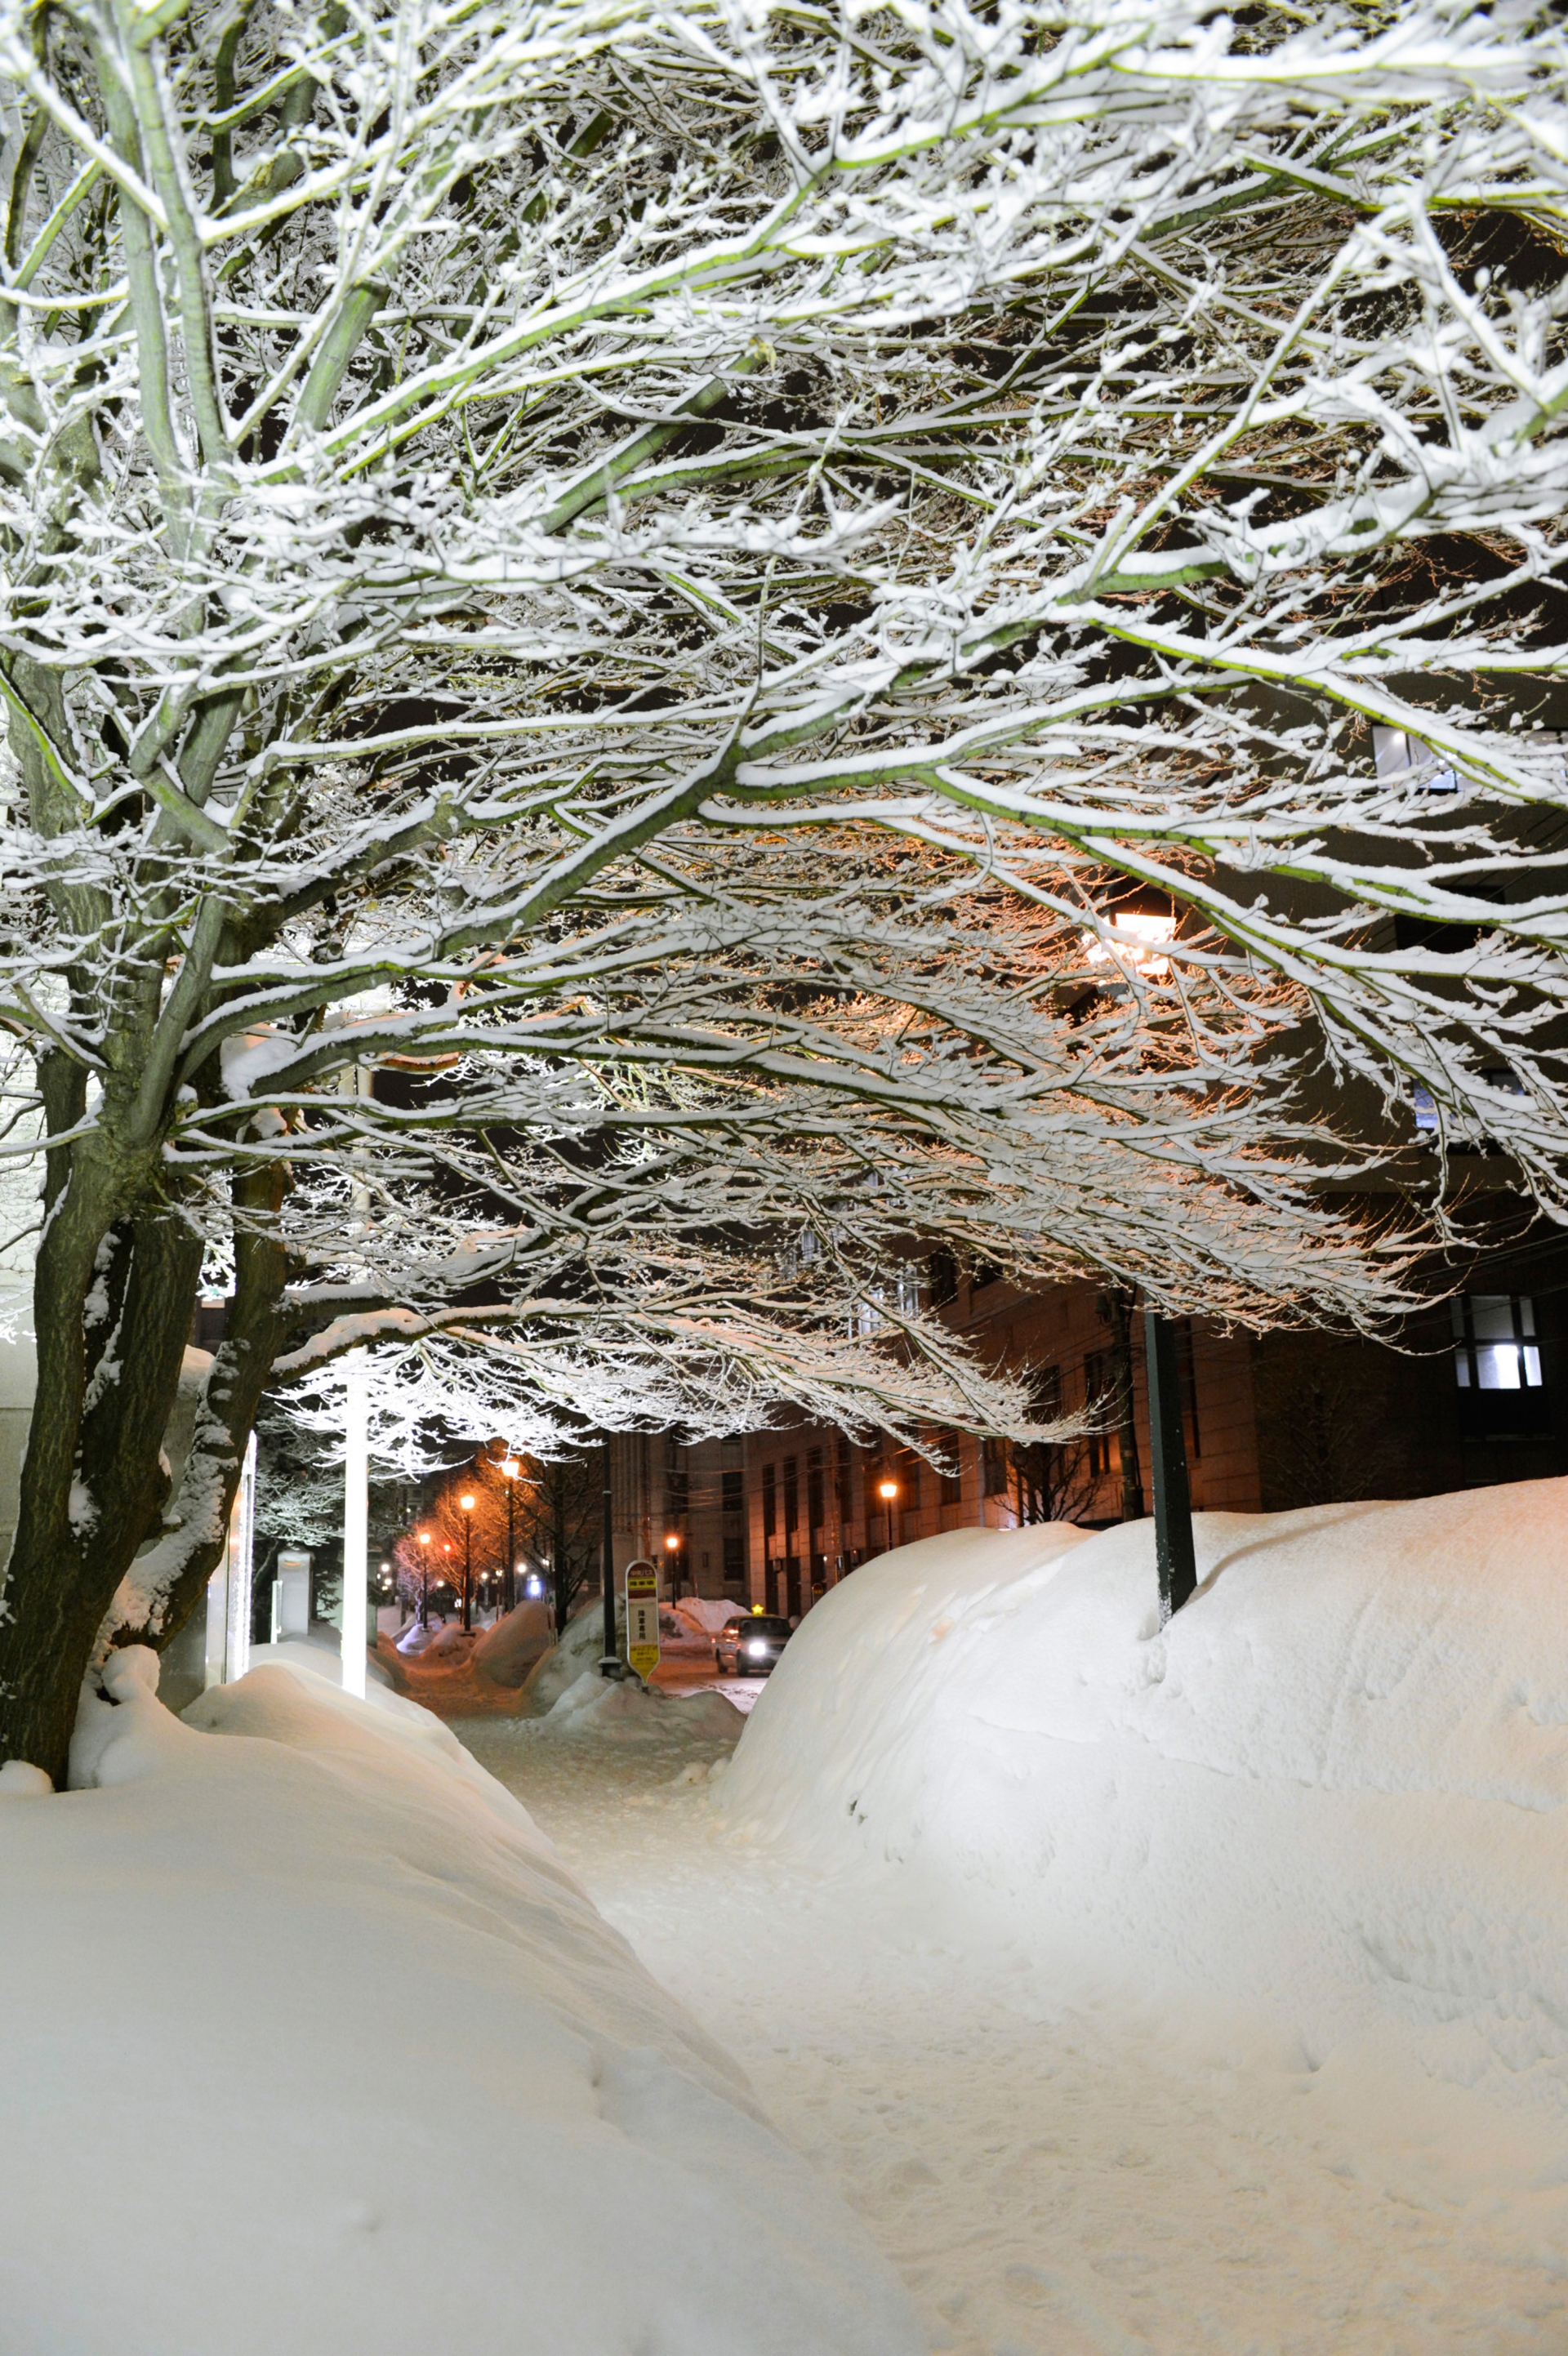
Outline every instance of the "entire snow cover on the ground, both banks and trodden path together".
<path fill-rule="evenodd" d="M 913 2356 L 885 2259 L 954 2356 L 1563 2356 L 1568 1484 L 1201 1517 L 1168 1630 L 1149 1536 L 883 1557 L 744 1732 L 428 1670 L 558 1849 L 115 1656 L 0 1772 L 2 2356 Z"/>

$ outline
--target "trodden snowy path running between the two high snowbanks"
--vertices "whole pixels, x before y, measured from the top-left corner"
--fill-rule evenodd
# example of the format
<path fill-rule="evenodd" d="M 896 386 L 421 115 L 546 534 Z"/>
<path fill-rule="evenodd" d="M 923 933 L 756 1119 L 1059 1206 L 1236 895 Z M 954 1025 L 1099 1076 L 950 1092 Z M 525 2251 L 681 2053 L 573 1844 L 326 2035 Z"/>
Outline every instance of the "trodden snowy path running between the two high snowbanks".
<path fill-rule="evenodd" d="M 678 1781 L 713 1743 L 692 1765 L 662 1743 L 454 1727 L 742 2057 L 902 2269 L 932 2347 L 1568 2347 L 1568 2170 L 1514 2123 L 1457 2094 L 1380 2094 L 1220 2019 L 1177 2033 L 1114 1991 L 1050 1988 L 1017 1948 L 932 1939 L 906 1894 L 746 1852 Z M 1455 2149 L 1467 2182 L 1441 2158 Z"/>

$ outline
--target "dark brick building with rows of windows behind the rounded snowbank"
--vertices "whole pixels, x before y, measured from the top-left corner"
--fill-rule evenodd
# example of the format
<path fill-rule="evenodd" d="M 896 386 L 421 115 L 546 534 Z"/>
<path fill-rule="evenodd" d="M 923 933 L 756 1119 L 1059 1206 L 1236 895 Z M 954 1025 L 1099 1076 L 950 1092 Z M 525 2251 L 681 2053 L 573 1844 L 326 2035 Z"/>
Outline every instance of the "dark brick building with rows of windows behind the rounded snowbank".
<path fill-rule="evenodd" d="M 1535 1480 L 1568 1470 L 1568 1244 L 1523 1227 L 1488 1253 L 1457 1301 L 1398 1345 L 1323 1333 L 1180 1329 L 1196 1510 L 1281 1513 L 1370 1496 Z M 1059 1449 L 949 1435 L 939 1472 L 913 1451 L 852 1447 L 812 1423 L 683 1447 L 617 1442 L 617 1560 L 666 1564 L 685 1593 L 800 1614 L 869 1555 L 944 1529 L 1149 1510 L 1142 1317 L 1121 1319 L 1090 1282 L 1019 1291 L 958 1282 L 944 1315 L 982 1355 L 1019 1369 L 1043 1409 L 1116 1395 L 1130 1357 L 1132 1444 L 1114 1416 Z M 1125 1364 L 1123 1357 L 1123 1364 Z M 883 1501 L 881 1484 L 895 1496 Z M 676 1541 L 673 1546 L 669 1541 Z"/>

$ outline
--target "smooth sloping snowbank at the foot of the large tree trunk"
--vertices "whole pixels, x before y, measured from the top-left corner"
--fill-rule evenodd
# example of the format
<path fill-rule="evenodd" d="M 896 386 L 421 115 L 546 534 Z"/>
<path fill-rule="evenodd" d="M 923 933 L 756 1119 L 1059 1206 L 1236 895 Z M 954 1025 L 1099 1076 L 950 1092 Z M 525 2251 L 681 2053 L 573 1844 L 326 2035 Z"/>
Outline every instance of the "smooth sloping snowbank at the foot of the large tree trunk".
<path fill-rule="evenodd" d="M 0 1795 L 5 2356 L 916 2356 L 864 2231 L 426 1710 L 115 1654 Z M 12 1779 L 14 1783 L 16 1779 Z M 407 2036 L 410 2021 L 445 2021 Z"/>

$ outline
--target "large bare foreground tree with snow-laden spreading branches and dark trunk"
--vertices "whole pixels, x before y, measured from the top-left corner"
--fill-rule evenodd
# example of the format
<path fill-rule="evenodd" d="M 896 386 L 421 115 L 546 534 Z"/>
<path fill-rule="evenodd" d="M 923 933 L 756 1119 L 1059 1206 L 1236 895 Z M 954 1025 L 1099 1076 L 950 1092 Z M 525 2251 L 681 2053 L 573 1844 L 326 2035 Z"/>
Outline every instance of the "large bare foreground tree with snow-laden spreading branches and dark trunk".
<path fill-rule="evenodd" d="M 1318 1180 L 1413 1084 L 1561 1204 L 1561 68 L 1507 5 L 0 12 L 0 1746 L 160 1527 L 188 1609 L 275 1369 L 1022 1428 L 923 1239 L 1366 1324 L 1408 1239 Z"/>

